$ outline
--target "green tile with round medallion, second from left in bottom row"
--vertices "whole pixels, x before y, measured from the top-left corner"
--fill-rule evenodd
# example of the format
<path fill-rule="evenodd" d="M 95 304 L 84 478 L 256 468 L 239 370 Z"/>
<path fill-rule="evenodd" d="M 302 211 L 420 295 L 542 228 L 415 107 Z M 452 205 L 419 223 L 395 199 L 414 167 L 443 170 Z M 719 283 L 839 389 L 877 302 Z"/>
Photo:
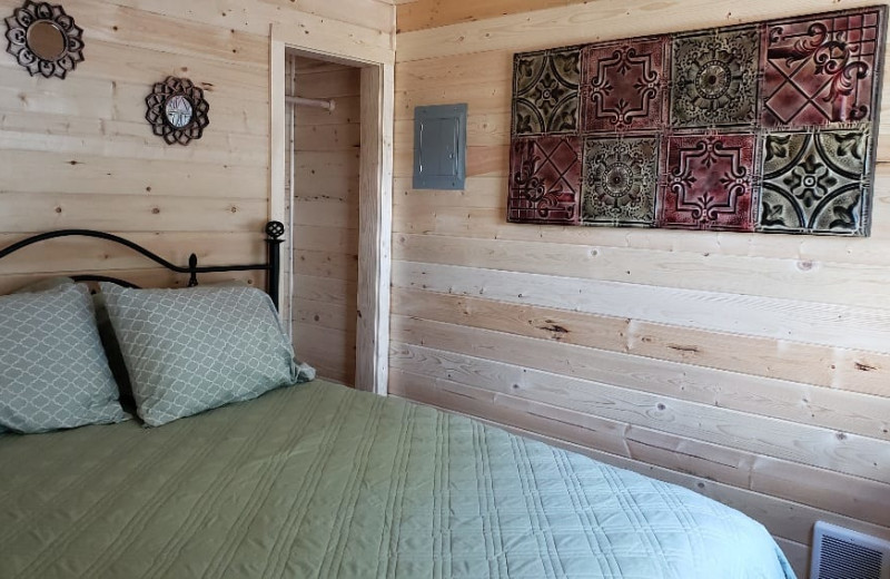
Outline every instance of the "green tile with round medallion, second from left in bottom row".
<path fill-rule="evenodd" d="M 660 146 L 657 138 L 589 138 L 584 143 L 585 225 L 655 224 Z"/>

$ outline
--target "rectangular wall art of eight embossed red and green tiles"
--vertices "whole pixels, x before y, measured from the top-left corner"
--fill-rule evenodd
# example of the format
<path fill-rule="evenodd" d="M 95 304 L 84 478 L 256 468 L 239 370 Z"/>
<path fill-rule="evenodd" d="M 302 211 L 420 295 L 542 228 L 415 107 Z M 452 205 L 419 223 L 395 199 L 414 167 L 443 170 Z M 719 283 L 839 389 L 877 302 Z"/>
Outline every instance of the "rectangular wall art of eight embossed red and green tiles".
<path fill-rule="evenodd" d="M 869 235 L 887 7 L 517 53 L 507 220 Z"/>

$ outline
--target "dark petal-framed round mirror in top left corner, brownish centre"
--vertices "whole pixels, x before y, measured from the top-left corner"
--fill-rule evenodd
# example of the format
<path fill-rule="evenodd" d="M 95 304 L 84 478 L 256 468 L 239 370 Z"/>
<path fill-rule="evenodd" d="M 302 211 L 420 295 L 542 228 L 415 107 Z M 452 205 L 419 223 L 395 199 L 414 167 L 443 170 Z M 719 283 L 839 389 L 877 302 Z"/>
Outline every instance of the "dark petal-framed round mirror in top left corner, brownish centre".
<path fill-rule="evenodd" d="M 83 30 L 60 6 L 26 0 L 6 23 L 7 52 L 31 76 L 65 78 L 83 61 Z"/>

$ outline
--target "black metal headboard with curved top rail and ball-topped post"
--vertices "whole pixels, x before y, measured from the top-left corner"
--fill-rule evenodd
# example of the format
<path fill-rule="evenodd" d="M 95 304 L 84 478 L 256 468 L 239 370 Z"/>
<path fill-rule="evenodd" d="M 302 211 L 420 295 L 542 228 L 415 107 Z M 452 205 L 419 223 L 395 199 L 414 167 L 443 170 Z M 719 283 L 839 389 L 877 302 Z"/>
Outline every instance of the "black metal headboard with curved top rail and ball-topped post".
<path fill-rule="evenodd" d="M 44 242 L 47 239 L 56 239 L 58 237 L 73 237 L 73 236 L 95 237 L 97 239 L 106 239 L 108 242 L 113 242 L 123 245 L 126 247 L 129 247 L 130 249 L 139 254 L 142 254 L 152 262 L 166 267 L 167 269 L 170 269 L 171 272 L 176 272 L 178 274 L 189 274 L 188 278 L 189 287 L 198 285 L 198 274 L 210 274 L 210 273 L 222 273 L 222 272 L 267 272 L 266 292 L 268 292 L 269 297 L 271 297 L 275 307 L 278 307 L 278 281 L 280 279 L 280 267 L 281 267 L 280 245 L 281 242 L 284 241 L 281 239 L 281 235 L 284 235 L 285 233 L 285 226 L 280 222 L 269 222 L 266 224 L 265 232 L 266 232 L 266 247 L 267 247 L 267 258 L 265 264 L 212 265 L 207 267 L 199 267 L 198 256 L 191 254 L 188 258 L 188 266 L 182 267 L 168 262 L 158 254 L 149 252 L 141 245 L 134 243 L 129 239 L 125 239 L 123 237 L 119 237 L 117 235 L 111 235 L 110 233 L 93 232 L 91 229 L 60 229 L 58 232 L 47 232 L 47 233 L 41 233 L 39 235 L 33 235 L 31 237 L 28 237 L 26 239 L 12 244 L 9 247 L 0 249 L 0 259 L 6 257 L 7 255 L 18 252 L 19 249 L 28 247 L 29 245 Z M 73 275 L 71 277 L 77 282 L 111 282 L 118 285 L 122 285 L 125 287 L 138 287 L 125 279 L 118 279 L 117 277 L 109 277 L 105 275 L 85 274 L 85 275 Z"/>

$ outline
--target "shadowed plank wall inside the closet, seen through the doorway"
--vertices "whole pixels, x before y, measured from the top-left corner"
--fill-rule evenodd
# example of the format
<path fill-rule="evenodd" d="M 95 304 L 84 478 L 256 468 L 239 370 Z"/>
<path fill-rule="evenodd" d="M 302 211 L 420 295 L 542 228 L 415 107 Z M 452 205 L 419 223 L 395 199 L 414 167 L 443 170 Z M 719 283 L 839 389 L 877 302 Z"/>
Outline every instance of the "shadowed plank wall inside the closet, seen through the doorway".
<path fill-rule="evenodd" d="M 294 343 L 318 374 L 355 385 L 360 69 L 291 57 L 296 95 Z"/>

